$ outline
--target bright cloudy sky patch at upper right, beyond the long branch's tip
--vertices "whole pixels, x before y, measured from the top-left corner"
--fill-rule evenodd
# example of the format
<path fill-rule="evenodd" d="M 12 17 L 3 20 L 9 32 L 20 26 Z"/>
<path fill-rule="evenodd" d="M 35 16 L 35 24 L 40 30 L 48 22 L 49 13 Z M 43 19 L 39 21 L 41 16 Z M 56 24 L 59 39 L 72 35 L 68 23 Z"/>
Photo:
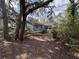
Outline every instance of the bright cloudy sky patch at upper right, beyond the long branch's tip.
<path fill-rule="evenodd" d="M 69 3 L 69 0 L 55 0 L 55 6 L 57 7 L 54 10 L 55 14 L 58 15 L 58 13 L 63 12 L 64 10 L 66 10 L 68 3 Z"/>

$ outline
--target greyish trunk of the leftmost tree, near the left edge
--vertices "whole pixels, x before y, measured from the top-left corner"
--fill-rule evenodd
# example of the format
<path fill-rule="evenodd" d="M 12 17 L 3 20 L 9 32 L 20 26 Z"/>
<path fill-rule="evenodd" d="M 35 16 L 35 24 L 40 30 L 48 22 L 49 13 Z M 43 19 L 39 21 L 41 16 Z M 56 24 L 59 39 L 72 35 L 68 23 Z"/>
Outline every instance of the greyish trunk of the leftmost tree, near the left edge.
<path fill-rule="evenodd" d="M 8 33 L 8 17 L 7 17 L 7 10 L 5 5 L 5 0 L 1 0 L 1 8 L 2 8 L 2 14 L 3 14 L 3 33 L 4 33 L 4 39 L 9 39 L 9 33 Z"/>

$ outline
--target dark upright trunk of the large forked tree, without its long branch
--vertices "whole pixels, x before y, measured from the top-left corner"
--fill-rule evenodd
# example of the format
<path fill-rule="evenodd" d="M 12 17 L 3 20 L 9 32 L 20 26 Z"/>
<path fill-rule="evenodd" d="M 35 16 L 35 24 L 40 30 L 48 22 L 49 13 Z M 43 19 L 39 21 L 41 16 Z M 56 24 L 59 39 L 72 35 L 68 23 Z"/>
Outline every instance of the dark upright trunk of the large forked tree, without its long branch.
<path fill-rule="evenodd" d="M 22 23 L 21 23 L 21 28 L 20 28 L 20 33 L 19 33 L 19 40 L 23 41 L 23 35 L 24 35 L 24 30 L 25 30 L 25 23 L 26 23 L 26 8 L 25 8 L 25 0 L 20 0 L 21 2 L 21 8 L 22 8 Z"/>

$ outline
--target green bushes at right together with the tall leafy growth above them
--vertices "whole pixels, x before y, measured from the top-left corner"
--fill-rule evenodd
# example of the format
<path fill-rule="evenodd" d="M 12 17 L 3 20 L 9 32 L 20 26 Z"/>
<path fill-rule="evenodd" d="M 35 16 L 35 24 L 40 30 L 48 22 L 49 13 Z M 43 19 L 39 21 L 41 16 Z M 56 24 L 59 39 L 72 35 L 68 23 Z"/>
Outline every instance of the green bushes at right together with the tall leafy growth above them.
<path fill-rule="evenodd" d="M 51 31 L 53 37 L 63 40 L 71 48 L 76 47 L 76 42 L 79 39 L 79 15 L 76 10 L 73 13 L 73 9 L 74 4 L 71 3 L 67 8 L 65 23 L 58 25 Z"/>

